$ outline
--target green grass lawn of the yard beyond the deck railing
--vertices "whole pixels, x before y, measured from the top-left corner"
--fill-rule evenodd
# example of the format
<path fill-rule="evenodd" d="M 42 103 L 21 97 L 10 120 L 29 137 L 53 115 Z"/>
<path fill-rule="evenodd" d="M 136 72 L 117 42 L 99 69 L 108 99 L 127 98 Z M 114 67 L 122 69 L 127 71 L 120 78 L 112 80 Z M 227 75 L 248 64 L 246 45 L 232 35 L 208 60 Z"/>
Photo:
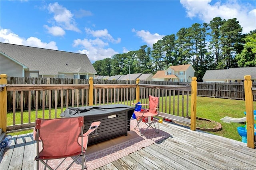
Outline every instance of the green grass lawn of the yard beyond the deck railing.
<path fill-rule="evenodd" d="M 190 101 L 190 99 L 189 99 Z M 160 99 L 161 103 L 161 99 Z M 256 102 L 254 104 L 254 110 L 256 110 Z M 190 104 L 189 104 L 190 107 Z M 167 108 L 168 109 L 168 108 Z M 65 108 L 63 109 L 63 111 Z M 190 111 L 190 108 L 189 108 Z M 218 99 L 218 98 L 210 98 L 210 97 L 197 97 L 197 107 L 196 107 L 196 116 L 200 118 L 210 119 L 211 121 L 216 121 L 221 123 L 222 130 L 217 132 L 210 132 L 212 134 L 216 134 L 219 136 L 224 136 L 226 138 L 231 138 L 234 140 L 241 141 L 242 137 L 238 134 L 236 128 L 245 125 L 245 123 L 223 123 L 220 121 L 221 118 L 225 116 L 241 118 L 245 117 L 245 101 L 242 100 L 231 100 L 231 99 Z M 61 110 L 57 110 L 57 117 L 61 114 Z M 189 113 L 190 114 L 190 113 Z M 24 123 L 28 123 L 28 112 L 24 112 Z M 42 110 L 38 111 L 38 117 L 42 118 Z M 49 110 L 45 110 L 45 119 L 49 118 Z M 51 110 L 51 118 L 55 117 L 54 109 Z M 16 124 L 20 124 L 20 113 L 16 113 Z M 35 111 L 31 111 L 31 122 L 35 120 Z M 12 125 L 12 114 L 7 114 L 7 125 Z M 202 124 L 203 125 L 203 124 Z M 204 127 L 201 127 L 204 128 Z M 208 127 L 207 127 L 208 128 Z M 32 132 L 32 130 L 22 131 L 12 133 L 21 134 Z"/>

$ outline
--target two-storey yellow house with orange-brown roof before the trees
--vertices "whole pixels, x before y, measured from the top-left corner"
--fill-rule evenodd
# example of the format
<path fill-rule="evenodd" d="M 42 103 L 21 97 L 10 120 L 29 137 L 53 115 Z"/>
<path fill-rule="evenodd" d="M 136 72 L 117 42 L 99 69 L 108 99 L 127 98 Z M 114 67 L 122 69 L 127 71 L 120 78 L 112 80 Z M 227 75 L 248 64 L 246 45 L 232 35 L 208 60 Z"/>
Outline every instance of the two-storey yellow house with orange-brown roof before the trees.
<path fill-rule="evenodd" d="M 195 70 L 191 64 L 170 66 L 166 70 L 157 71 L 153 81 L 191 82 Z"/>

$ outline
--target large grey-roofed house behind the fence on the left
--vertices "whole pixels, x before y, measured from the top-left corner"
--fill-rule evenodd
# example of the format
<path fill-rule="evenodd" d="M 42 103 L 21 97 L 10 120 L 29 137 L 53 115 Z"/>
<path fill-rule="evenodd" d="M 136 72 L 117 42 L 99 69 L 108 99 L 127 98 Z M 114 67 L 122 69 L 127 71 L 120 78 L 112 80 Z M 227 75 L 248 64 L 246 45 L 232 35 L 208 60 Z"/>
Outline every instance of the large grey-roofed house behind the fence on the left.
<path fill-rule="evenodd" d="M 0 43 L 0 74 L 88 79 L 97 72 L 85 54 Z"/>

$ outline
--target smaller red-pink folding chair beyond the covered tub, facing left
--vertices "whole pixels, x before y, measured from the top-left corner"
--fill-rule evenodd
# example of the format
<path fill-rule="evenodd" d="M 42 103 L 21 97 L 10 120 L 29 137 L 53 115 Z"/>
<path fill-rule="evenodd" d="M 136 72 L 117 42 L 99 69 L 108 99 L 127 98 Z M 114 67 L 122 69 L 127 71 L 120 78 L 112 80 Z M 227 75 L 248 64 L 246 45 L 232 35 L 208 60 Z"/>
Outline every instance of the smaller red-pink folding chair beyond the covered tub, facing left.
<path fill-rule="evenodd" d="M 134 115 L 136 117 L 137 125 L 134 129 L 137 127 L 139 128 L 140 135 L 143 136 L 143 134 L 146 132 L 146 130 L 151 127 L 153 128 L 156 133 L 158 133 L 158 102 L 159 97 L 149 96 L 148 97 L 148 109 L 141 109 L 140 111 L 134 111 Z M 134 103 L 132 103 L 134 104 Z M 145 106 L 145 104 L 134 104 L 134 105 L 142 105 Z M 140 123 L 143 122 L 147 125 L 145 128 L 145 131 L 141 132 L 141 126 Z M 155 125 L 157 123 L 157 126 Z"/>

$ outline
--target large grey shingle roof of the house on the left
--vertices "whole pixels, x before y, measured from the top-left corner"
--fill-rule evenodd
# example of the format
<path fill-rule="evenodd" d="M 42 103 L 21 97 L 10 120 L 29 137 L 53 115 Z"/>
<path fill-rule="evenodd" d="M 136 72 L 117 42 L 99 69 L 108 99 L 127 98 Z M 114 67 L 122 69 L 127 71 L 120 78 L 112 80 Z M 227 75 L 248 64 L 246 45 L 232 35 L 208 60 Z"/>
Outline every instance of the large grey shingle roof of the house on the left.
<path fill-rule="evenodd" d="M 0 43 L 0 51 L 40 75 L 97 73 L 86 54 L 9 43 Z"/>

